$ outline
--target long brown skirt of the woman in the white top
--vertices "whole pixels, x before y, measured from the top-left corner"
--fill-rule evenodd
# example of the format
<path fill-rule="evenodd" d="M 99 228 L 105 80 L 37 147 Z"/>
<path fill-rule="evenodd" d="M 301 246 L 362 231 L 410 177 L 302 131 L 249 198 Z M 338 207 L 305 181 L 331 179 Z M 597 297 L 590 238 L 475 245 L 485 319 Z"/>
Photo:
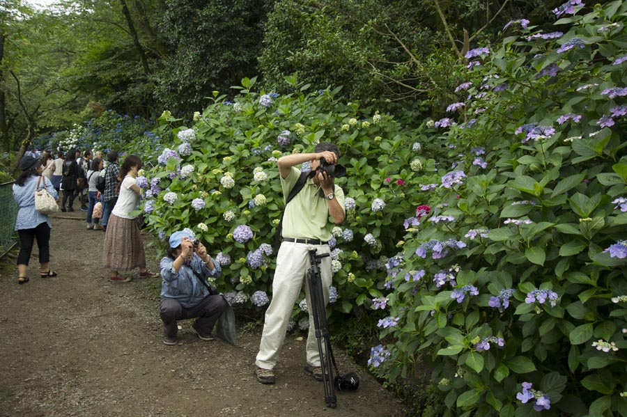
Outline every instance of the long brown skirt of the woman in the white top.
<path fill-rule="evenodd" d="M 137 221 L 111 214 L 107 233 L 104 233 L 102 266 L 113 271 L 146 267 L 144 243 L 141 242 Z"/>

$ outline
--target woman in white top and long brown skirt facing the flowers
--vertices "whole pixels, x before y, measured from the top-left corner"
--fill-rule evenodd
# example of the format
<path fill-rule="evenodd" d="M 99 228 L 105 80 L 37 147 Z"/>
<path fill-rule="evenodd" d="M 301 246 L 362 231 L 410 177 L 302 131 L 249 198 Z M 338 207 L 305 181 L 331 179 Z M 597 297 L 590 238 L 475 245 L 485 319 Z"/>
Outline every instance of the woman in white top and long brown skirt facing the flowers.
<path fill-rule="evenodd" d="M 122 277 L 119 271 L 139 268 L 139 276 L 158 276 L 146 268 L 144 244 L 139 235 L 139 226 L 130 212 L 137 210 L 140 189 L 137 186 L 137 171 L 141 169 L 141 159 L 129 155 L 118 174 L 119 197 L 109 217 L 109 226 L 104 235 L 102 266 L 111 269 L 111 282 L 127 283 L 130 277 Z"/>

